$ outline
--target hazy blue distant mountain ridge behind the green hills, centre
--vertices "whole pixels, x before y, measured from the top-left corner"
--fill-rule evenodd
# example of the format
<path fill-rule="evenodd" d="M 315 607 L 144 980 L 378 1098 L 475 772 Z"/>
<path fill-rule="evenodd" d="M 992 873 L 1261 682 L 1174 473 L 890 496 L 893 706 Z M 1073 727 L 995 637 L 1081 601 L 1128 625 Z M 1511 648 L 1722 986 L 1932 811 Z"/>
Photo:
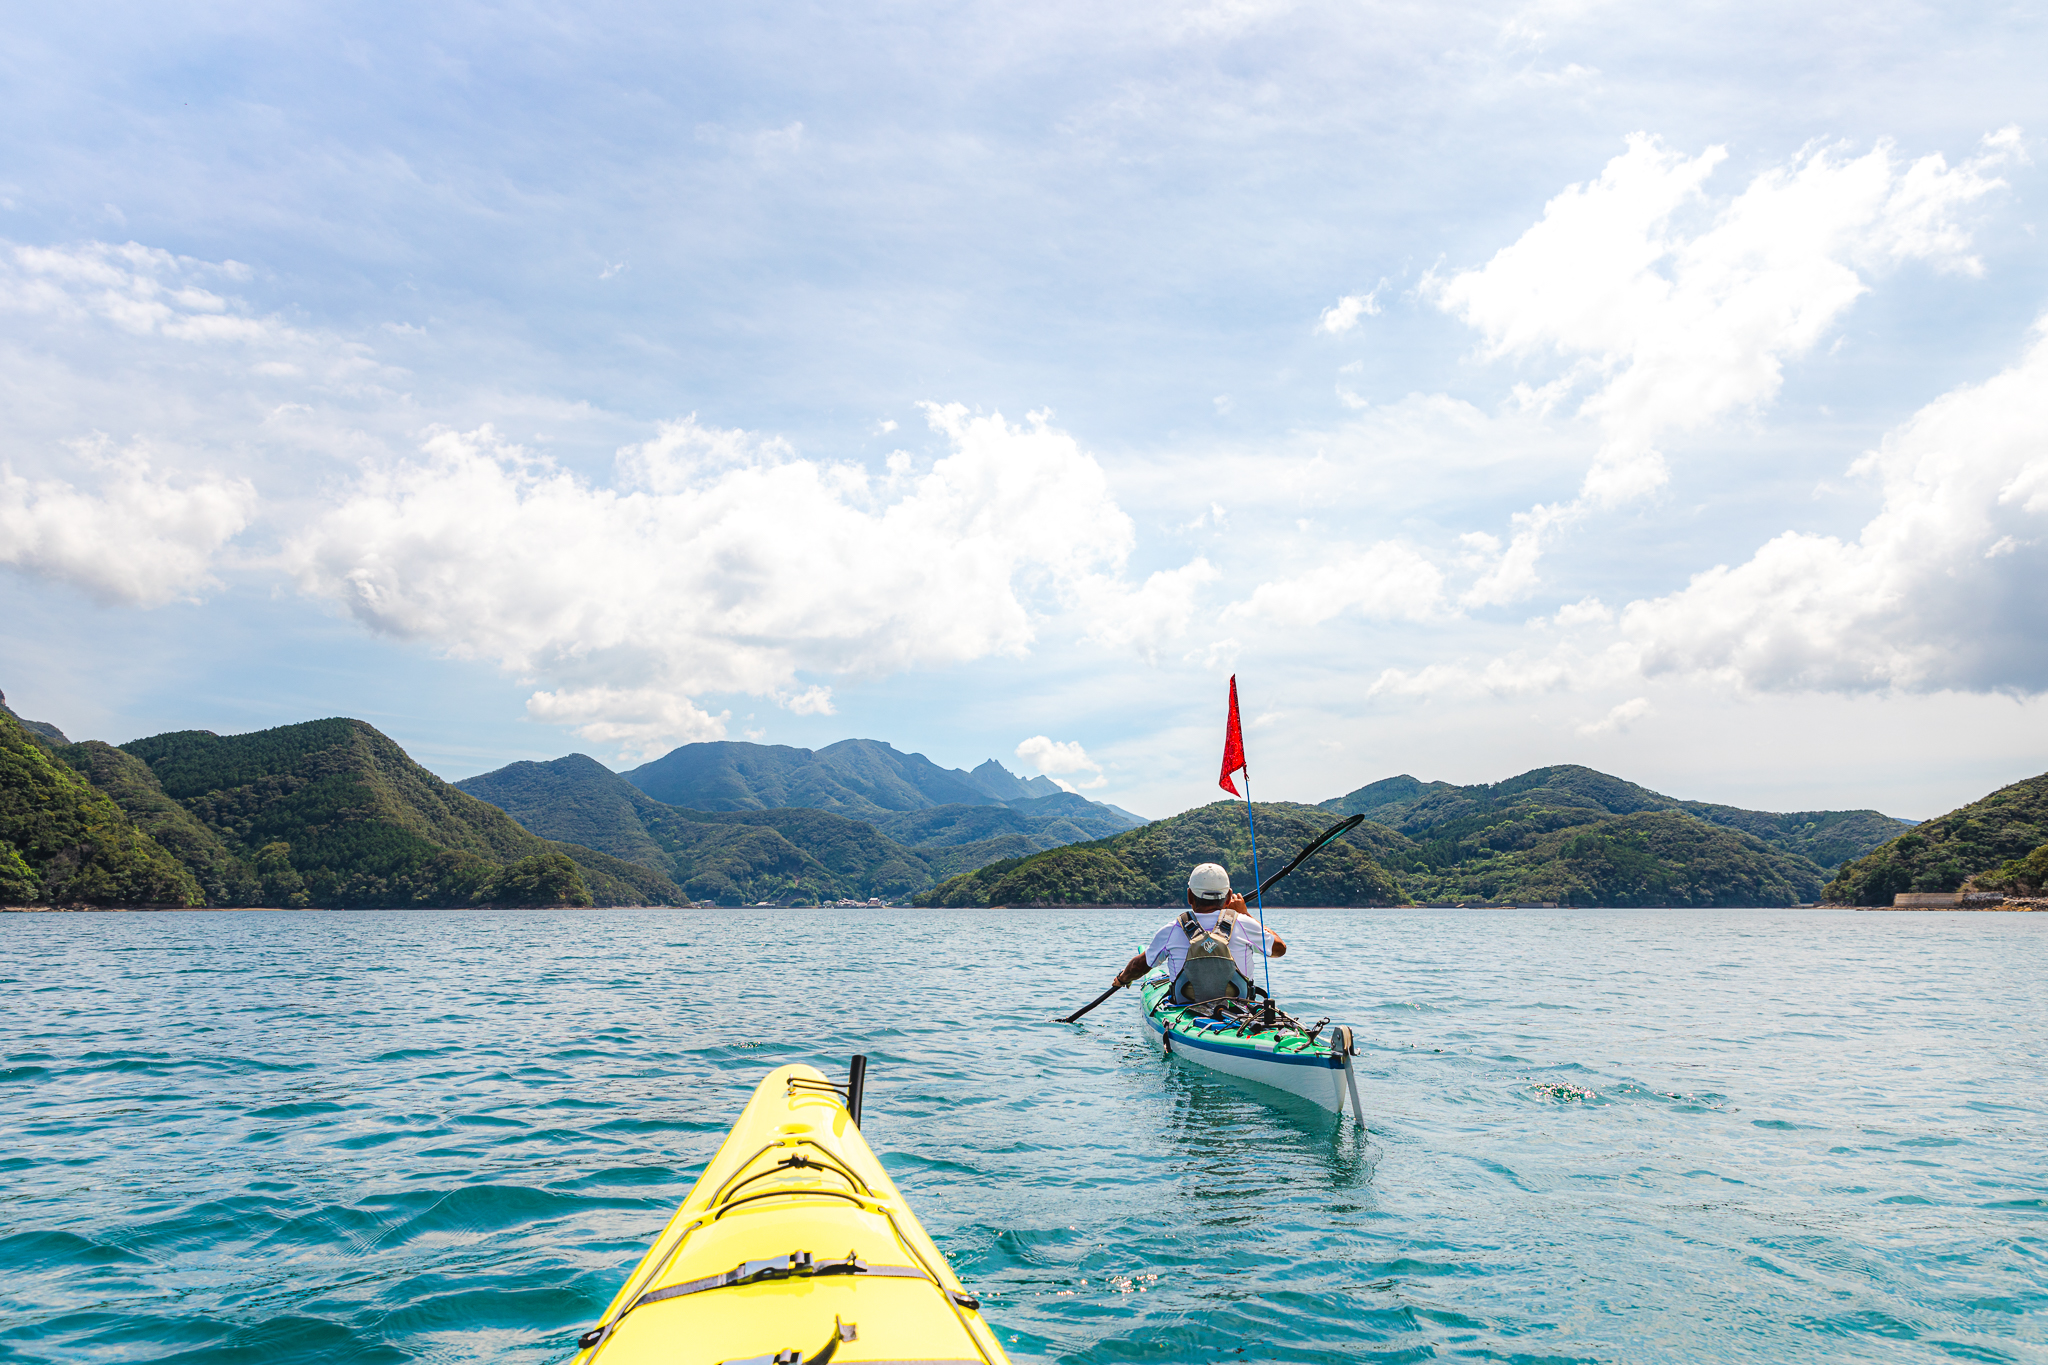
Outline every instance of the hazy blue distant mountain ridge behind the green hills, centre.
<path fill-rule="evenodd" d="M 842 739 L 823 749 L 721 739 L 670 749 L 621 776 L 655 800 L 684 810 L 805 806 L 856 821 L 885 821 L 934 806 L 1010 804 L 1065 792 L 1051 778 L 1018 778 L 995 759 L 973 772 L 940 767 L 922 753 L 901 753 L 879 739 Z M 1145 823 L 1128 810 L 1090 804 L 1122 817 L 1120 829 Z"/>

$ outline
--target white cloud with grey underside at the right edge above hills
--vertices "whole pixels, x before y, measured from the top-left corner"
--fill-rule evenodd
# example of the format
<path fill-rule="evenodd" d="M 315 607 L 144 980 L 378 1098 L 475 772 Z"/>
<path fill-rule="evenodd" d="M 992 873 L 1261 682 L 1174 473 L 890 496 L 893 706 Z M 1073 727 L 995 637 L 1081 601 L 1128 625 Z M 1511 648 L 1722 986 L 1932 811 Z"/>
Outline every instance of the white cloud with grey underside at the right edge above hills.
<path fill-rule="evenodd" d="M 1784 532 L 1747 563 L 1632 602 L 1647 673 L 1755 690 L 2048 690 L 2048 323 L 1862 460 L 1884 505 L 1855 540 Z"/>

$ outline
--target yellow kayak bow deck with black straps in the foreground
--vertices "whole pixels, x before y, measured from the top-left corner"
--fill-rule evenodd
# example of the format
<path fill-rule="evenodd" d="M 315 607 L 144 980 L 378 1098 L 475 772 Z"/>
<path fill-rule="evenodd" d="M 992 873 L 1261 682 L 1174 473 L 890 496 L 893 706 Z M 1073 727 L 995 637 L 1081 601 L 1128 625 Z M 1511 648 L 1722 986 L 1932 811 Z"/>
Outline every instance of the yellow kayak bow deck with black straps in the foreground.
<path fill-rule="evenodd" d="M 840 1091 L 778 1066 L 573 1365 L 1006 1365 Z"/>

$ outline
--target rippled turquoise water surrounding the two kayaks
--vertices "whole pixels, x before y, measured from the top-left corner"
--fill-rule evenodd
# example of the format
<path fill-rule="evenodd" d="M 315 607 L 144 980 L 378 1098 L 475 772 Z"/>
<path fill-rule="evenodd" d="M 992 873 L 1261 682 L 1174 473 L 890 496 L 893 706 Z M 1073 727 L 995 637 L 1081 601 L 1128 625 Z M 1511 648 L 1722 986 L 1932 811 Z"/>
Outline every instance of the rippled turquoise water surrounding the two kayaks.
<path fill-rule="evenodd" d="M 1018 1359 L 2048 1361 L 2048 915 L 1288 911 L 1366 1134 L 1047 1023 L 1151 927 L 0 917 L 0 1359 L 565 1359 L 866 1052 Z"/>

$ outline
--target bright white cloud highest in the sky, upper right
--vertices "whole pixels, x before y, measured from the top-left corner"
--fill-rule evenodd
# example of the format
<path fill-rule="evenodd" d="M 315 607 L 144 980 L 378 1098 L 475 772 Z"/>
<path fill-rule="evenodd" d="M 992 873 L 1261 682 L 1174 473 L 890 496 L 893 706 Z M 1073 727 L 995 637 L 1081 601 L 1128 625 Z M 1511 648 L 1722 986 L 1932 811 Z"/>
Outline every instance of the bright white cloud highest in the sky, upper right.
<path fill-rule="evenodd" d="M 1581 497 L 1614 505 L 1665 483 L 1659 434 L 1776 397 L 1784 362 L 1866 293 L 1860 270 L 1978 272 L 1958 213 L 2005 184 L 1991 172 L 2017 147 L 2007 129 L 1950 168 L 1939 153 L 1896 166 L 1890 143 L 1853 160 L 1815 145 L 1688 235 L 1675 219 L 1704 201 L 1726 151 L 1683 158 L 1636 133 L 1513 246 L 1425 293 L 1485 336 L 1489 358 L 1567 358 L 1550 401 L 1595 385 L 1579 411 L 1602 446 Z"/>

